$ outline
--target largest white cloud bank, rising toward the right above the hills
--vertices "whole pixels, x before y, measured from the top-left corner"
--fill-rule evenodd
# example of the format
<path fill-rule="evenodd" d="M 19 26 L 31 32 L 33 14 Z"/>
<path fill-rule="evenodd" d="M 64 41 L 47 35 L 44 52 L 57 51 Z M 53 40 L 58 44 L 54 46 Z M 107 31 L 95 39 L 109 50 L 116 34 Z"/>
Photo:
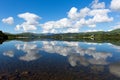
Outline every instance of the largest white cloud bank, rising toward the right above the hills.
<path fill-rule="evenodd" d="M 79 10 L 72 7 L 66 18 L 45 22 L 41 27 L 43 33 L 76 33 L 80 32 L 80 28 L 84 26 L 94 28 L 98 23 L 113 21 L 113 17 L 108 15 L 110 12 L 105 8 L 104 2 L 94 0 L 91 8 L 84 7 Z"/>

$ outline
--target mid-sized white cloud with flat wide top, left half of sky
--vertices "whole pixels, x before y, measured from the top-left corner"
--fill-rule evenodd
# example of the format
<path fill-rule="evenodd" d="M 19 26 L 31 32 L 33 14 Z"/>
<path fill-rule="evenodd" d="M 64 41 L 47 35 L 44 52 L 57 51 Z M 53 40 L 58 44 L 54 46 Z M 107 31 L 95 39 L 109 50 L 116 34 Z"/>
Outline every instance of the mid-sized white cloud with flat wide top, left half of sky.
<path fill-rule="evenodd" d="M 36 30 L 39 26 L 38 20 L 41 19 L 38 15 L 29 12 L 19 14 L 18 17 L 24 19 L 25 22 L 16 25 L 15 30 L 23 29 L 25 32 Z"/>

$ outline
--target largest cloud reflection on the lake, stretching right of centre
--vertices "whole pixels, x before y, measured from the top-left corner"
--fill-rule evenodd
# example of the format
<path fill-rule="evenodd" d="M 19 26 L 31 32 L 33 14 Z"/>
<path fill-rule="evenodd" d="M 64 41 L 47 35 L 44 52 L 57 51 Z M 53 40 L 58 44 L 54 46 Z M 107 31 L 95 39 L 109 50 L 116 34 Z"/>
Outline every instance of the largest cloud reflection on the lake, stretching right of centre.
<path fill-rule="evenodd" d="M 108 64 L 106 59 L 108 57 L 112 57 L 111 53 L 97 52 L 95 47 L 89 47 L 87 49 L 82 48 L 79 46 L 78 42 L 69 42 L 70 44 L 68 42 L 58 43 L 64 45 L 67 44 L 67 46 L 59 46 L 57 45 L 56 41 L 54 41 L 54 44 L 53 42 L 43 41 L 42 50 L 48 53 L 56 53 L 62 56 L 68 56 L 71 66 L 76 66 L 78 62 L 84 66 L 88 64 L 106 65 Z M 87 58 L 86 55 L 90 58 Z"/>

